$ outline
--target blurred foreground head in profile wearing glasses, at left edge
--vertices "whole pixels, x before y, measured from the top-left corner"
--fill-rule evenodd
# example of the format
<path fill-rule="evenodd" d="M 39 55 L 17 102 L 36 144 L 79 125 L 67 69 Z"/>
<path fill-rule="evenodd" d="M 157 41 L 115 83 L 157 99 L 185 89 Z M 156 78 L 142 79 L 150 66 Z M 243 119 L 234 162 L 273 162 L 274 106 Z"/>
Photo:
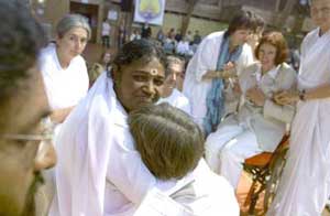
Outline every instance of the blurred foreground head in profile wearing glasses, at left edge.
<path fill-rule="evenodd" d="M 40 170 L 53 165 L 38 154 L 50 114 L 36 66 L 45 35 L 19 1 L 0 0 L 0 215 L 33 216 Z"/>

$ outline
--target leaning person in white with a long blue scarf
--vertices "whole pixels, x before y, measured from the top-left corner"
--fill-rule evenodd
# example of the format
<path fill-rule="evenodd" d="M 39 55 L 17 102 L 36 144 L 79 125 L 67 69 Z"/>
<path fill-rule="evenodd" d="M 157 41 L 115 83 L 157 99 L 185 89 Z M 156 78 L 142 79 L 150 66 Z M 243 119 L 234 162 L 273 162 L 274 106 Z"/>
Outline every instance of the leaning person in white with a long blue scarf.
<path fill-rule="evenodd" d="M 202 40 L 189 62 L 184 94 L 191 104 L 193 117 L 206 134 L 217 129 L 222 117 L 235 111 L 234 77 L 253 62 L 252 50 L 245 42 L 254 28 L 253 13 L 241 11 L 227 31 Z"/>

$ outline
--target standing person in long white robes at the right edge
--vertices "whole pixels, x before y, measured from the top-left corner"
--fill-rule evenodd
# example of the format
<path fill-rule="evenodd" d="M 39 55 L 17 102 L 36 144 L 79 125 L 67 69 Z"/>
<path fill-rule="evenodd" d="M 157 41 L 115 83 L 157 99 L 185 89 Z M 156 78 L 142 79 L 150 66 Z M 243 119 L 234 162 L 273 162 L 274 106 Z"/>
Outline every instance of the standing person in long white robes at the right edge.
<path fill-rule="evenodd" d="M 298 93 L 275 96 L 297 101 L 287 163 L 268 216 L 321 215 L 330 196 L 330 0 L 312 0 L 318 25 L 301 44 Z"/>

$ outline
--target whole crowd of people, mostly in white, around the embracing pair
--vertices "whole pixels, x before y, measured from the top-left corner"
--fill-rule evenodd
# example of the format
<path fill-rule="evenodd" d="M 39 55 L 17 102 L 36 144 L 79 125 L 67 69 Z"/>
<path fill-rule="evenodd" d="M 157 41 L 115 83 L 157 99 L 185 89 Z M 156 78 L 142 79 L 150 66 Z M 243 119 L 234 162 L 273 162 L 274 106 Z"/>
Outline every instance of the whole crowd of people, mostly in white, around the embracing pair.
<path fill-rule="evenodd" d="M 304 39 L 298 73 L 284 35 L 250 11 L 202 40 L 160 31 L 162 45 L 146 24 L 142 39 L 105 52 L 88 72 L 82 15 L 65 15 L 47 43 L 21 1 L 0 0 L 0 215 L 239 216 L 242 163 L 273 152 L 288 126 L 267 216 L 321 215 L 330 196 L 330 0 L 311 0 L 310 14 L 317 28 Z M 180 42 L 198 44 L 191 60 Z"/>

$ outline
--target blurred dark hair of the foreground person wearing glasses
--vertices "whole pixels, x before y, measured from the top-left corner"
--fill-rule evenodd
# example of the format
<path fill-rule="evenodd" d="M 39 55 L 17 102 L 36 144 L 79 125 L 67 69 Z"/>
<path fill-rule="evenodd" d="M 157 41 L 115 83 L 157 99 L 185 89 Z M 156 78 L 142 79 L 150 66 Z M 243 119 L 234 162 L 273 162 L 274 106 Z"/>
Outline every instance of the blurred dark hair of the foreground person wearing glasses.
<path fill-rule="evenodd" d="M 24 3 L 0 0 L 0 102 L 29 78 L 46 36 Z"/>

